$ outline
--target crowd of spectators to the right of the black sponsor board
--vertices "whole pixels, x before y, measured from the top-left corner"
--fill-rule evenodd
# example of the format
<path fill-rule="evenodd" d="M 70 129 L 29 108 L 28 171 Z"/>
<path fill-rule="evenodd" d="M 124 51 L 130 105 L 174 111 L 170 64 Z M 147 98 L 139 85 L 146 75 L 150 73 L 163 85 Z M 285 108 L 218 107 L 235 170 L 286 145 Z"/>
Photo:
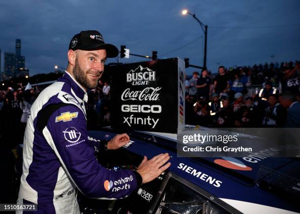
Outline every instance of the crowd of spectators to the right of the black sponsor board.
<path fill-rule="evenodd" d="M 195 71 L 185 81 L 185 123 L 206 127 L 300 127 L 299 73 L 297 61 L 280 66 L 255 65 L 252 69 L 220 66 L 214 77 L 205 70 L 200 74 Z M 253 82 L 262 88 L 249 94 Z"/>

